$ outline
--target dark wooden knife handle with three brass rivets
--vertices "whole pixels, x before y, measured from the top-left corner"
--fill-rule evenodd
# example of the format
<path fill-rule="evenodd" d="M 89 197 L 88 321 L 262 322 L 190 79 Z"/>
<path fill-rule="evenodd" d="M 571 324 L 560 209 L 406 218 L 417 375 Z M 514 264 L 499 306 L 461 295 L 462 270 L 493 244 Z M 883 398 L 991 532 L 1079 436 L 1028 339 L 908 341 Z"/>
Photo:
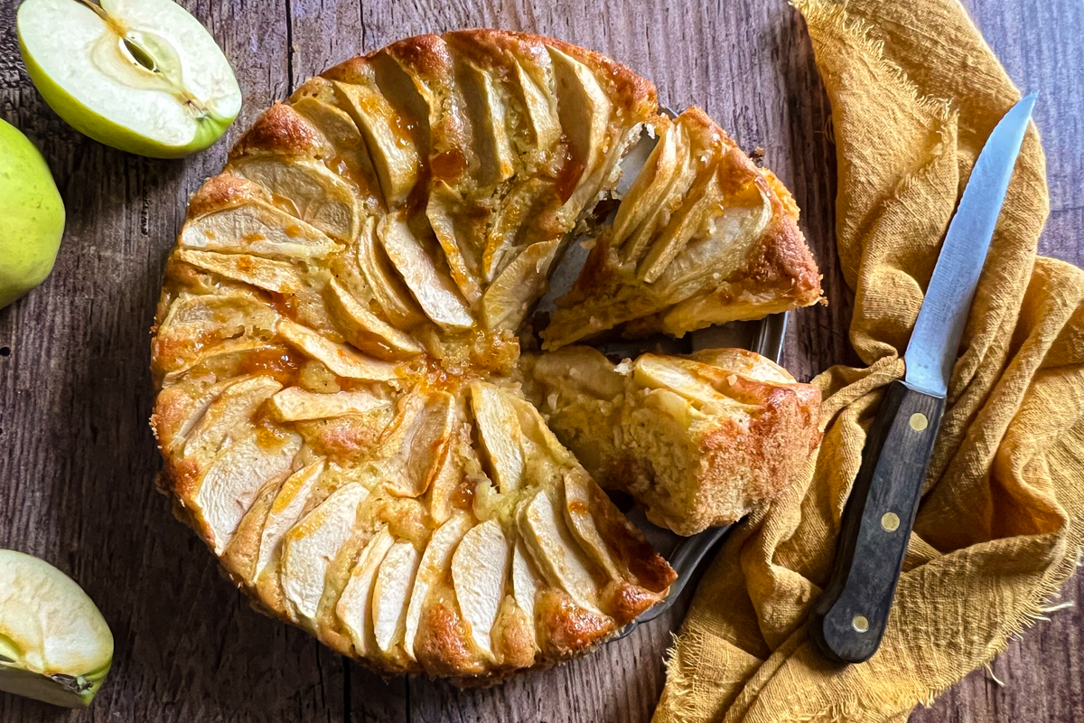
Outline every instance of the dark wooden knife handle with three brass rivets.
<path fill-rule="evenodd" d="M 880 645 L 944 405 L 905 382 L 885 391 L 843 511 L 831 579 L 810 620 L 813 644 L 830 660 L 862 662 Z"/>

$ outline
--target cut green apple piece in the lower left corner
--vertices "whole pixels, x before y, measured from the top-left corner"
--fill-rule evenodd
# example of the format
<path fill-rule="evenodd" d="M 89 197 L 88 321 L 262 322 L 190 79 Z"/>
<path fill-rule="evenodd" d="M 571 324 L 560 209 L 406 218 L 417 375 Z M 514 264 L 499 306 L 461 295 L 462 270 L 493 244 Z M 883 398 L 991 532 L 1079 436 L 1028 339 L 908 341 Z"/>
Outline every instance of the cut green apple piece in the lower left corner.
<path fill-rule="evenodd" d="M 113 664 L 98 607 L 55 567 L 0 550 L 0 690 L 83 708 Z"/>

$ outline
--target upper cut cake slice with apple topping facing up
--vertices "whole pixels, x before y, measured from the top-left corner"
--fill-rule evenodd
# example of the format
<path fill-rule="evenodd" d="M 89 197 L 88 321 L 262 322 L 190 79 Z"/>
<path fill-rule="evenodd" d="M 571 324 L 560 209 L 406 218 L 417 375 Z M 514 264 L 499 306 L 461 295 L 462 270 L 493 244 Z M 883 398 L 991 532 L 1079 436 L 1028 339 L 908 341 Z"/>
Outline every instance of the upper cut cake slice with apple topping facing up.
<path fill-rule="evenodd" d="M 542 332 L 557 349 L 620 327 L 625 336 L 762 319 L 821 301 L 798 208 L 699 108 L 660 124 L 612 225 L 593 243 Z"/>

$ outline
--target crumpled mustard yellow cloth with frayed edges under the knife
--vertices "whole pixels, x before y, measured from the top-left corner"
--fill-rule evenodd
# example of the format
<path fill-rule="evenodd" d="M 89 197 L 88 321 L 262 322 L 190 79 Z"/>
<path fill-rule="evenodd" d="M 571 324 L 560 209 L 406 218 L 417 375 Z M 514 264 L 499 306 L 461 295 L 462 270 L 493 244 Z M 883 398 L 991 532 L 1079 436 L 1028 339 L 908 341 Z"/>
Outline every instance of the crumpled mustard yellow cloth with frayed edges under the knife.
<path fill-rule="evenodd" d="M 843 669 L 811 649 L 806 615 L 828 579 L 865 430 L 882 387 L 903 373 L 963 183 L 1020 93 L 956 0 L 798 8 L 831 100 L 839 258 L 855 291 L 851 341 L 867 367 L 814 380 L 825 397 L 821 449 L 708 570 L 671 651 L 657 723 L 902 723 L 1004 649 L 1072 574 L 1084 538 L 1084 272 L 1035 255 L 1048 198 L 1032 128 L 881 648 Z"/>

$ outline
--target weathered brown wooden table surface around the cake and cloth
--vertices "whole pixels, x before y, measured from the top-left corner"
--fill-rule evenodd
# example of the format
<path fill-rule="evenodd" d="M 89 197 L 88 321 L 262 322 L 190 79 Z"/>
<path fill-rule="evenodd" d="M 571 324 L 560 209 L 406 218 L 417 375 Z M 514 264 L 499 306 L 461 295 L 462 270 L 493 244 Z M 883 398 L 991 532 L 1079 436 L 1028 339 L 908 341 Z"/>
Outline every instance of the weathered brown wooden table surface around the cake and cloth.
<path fill-rule="evenodd" d="M 829 107 L 803 23 L 782 1 L 182 0 L 218 39 L 245 106 L 224 142 L 152 160 L 94 143 L 41 101 L 18 61 L 16 0 L 0 0 L 0 117 L 43 151 L 67 204 L 56 270 L 0 311 L 0 546 L 70 573 L 113 628 L 116 660 L 87 712 L 0 694 L 0 721 L 599 721 L 651 715 L 678 609 L 585 659 L 486 690 L 387 684 L 248 608 L 153 487 L 149 334 L 185 202 L 262 108 L 305 78 L 397 38 L 459 27 L 539 31 L 632 66 L 672 107 L 701 104 L 795 191 L 825 273 L 826 309 L 791 326 L 801 378 L 854 361 L 836 260 Z M 712 7 L 704 8 L 702 5 Z M 1009 74 L 1040 91 L 1051 215 L 1043 253 L 1084 261 L 1084 5 L 969 0 Z M 0 259 L 2 262 L 2 259 Z M 1084 594 L 1077 576 L 1064 599 Z M 1054 614 L 913 721 L 1084 720 L 1084 611 Z"/>

